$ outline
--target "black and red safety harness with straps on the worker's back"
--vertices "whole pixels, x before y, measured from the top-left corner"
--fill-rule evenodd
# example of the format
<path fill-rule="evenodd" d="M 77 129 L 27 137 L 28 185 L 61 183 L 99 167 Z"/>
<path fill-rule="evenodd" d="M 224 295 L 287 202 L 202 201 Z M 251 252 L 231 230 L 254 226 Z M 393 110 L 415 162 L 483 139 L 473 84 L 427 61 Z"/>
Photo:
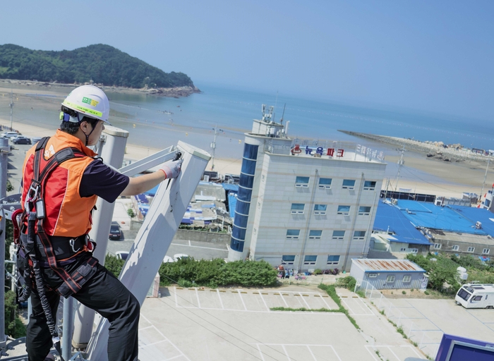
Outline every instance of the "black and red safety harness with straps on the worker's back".
<path fill-rule="evenodd" d="M 31 295 L 32 288 L 37 289 L 40 302 L 47 318 L 47 325 L 55 348 L 60 348 L 60 338 L 56 331 L 54 318 L 45 294 L 47 287 L 42 278 L 42 268 L 52 269 L 64 282 L 55 292 L 64 298 L 77 293 L 88 279 L 96 272 L 97 259 L 85 257 L 80 266 L 69 274 L 64 266 L 76 261 L 76 255 L 89 250 L 92 252 L 95 243 L 88 239 L 88 235 L 77 238 L 56 237 L 45 233 L 43 220 L 44 191 L 46 180 L 57 166 L 68 159 L 87 157 L 76 148 L 64 148 L 56 152 L 48 161 L 42 158 L 44 147 L 49 137 L 44 137 L 37 143 L 33 160 L 33 176 L 25 195 L 24 209 L 12 214 L 14 227 L 14 242 L 18 247 L 18 300 L 25 302 Z M 60 352 L 60 350 L 59 350 Z"/>

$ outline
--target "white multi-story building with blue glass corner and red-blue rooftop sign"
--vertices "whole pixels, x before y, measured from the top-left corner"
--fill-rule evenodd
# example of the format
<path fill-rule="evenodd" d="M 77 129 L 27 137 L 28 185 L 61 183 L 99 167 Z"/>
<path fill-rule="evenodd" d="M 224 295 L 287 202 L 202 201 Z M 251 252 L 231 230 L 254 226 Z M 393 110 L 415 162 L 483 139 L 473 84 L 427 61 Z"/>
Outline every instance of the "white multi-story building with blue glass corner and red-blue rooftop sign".
<path fill-rule="evenodd" d="M 342 269 L 366 257 L 386 164 L 349 142 L 299 142 L 270 114 L 246 133 L 229 260 Z M 307 143 L 307 144 L 306 144 Z"/>

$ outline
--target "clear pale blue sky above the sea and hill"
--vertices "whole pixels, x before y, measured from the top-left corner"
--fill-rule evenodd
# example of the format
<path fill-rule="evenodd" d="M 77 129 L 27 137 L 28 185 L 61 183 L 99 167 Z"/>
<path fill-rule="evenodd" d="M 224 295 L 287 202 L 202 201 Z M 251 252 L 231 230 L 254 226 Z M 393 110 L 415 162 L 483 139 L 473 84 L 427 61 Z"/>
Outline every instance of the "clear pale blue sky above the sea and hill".
<path fill-rule="evenodd" d="M 494 1 L 18 0 L 0 44 L 108 44 L 201 84 L 494 120 Z"/>

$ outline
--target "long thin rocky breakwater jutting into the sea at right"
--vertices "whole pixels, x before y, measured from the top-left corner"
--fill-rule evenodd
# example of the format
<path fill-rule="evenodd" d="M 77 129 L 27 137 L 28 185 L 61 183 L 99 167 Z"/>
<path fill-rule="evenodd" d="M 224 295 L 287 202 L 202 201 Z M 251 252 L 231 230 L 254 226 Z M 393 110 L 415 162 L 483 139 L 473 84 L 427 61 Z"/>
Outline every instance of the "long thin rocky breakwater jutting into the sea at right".
<path fill-rule="evenodd" d="M 444 145 L 443 142 L 421 142 L 400 137 L 388 137 L 386 135 L 375 135 L 368 133 L 351 132 L 348 130 L 338 130 L 339 132 L 354 137 L 360 137 L 375 142 L 385 143 L 398 147 L 404 147 L 411 152 L 426 154 L 426 157 L 442 161 L 482 161 L 494 160 L 492 156 L 476 154 L 471 149 L 466 149 L 462 145 Z"/>

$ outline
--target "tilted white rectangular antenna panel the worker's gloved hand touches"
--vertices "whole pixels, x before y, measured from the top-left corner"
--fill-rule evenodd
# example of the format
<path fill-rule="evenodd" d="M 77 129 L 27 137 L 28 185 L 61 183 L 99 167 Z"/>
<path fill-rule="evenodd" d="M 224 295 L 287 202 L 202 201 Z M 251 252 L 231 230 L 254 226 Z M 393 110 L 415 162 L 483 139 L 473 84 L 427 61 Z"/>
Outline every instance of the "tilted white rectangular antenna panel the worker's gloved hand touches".
<path fill-rule="evenodd" d="M 161 183 L 120 274 L 120 280 L 143 304 L 152 280 L 203 176 L 210 154 L 183 142 L 182 171 L 170 186 Z M 107 361 L 109 322 L 101 319 L 86 352 L 89 360 Z"/>

